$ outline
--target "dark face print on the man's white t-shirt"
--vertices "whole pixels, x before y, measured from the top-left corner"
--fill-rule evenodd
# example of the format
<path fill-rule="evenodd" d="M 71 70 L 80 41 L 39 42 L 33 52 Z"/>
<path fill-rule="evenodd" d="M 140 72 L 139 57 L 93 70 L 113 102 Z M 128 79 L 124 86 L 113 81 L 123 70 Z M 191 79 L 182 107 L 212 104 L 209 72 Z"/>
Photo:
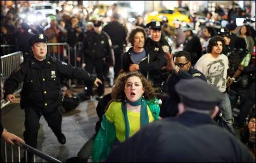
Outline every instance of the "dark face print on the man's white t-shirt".
<path fill-rule="evenodd" d="M 207 82 L 211 85 L 220 88 L 225 88 L 224 76 L 225 65 L 223 60 L 216 60 L 207 65 Z"/>

